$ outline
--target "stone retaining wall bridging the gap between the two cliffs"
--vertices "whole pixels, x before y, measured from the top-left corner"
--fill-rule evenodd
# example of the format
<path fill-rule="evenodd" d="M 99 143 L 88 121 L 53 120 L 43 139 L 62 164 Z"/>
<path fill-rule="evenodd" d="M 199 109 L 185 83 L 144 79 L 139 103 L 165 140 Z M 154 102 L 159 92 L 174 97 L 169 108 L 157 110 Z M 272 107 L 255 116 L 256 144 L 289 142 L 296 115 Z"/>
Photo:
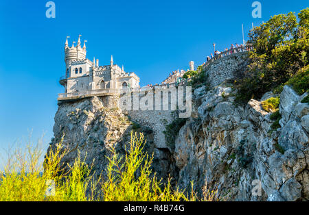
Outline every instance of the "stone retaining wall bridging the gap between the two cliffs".
<path fill-rule="evenodd" d="M 180 110 L 179 117 L 190 117 L 191 113 L 191 93 L 187 93 L 187 90 L 191 90 L 191 88 L 183 88 L 184 91 L 179 88 L 175 88 L 174 86 L 170 88 L 150 88 L 149 93 L 152 93 L 151 96 L 148 97 L 148 94 L 145 92 L 134 92 L 131 94 L 131 105 L 130 108 L 122 107 L 122 105 L 118 105 L 123 112 L 125 112 L 131 121 L 142 125 L 143 127 L 148 127 L 154 132 L 154 143 L 157 148 L 169 148 L 169 146 L 165 143 L 165 135 L 163 131 L 165 131 L 165 125 L 168 125 L 174 121 L 174 114 L 178 108 Z M 179 99 L 179 95 L 183 95 L 183 99 Z M 187 97 L 187 94 L 189 97 Z M 151 100 L 151 105 L 142 109 L 141 105 L 143 103 L 147 103 L 148 99 Z M 134 103 L 136 99 L 139 99 L 138 105 Z M 144 99 L 144 100 L 143 100 Z M 145 101 L 145 102 L 144 102 Z M 181 104 L 181 101 L 187 101 Z M 119 103 L 122 103 L 120 101 Z M 133 104 L 134 103 L 134 104 Z M 138 106 L 138 107 L 135 107 Z"/>

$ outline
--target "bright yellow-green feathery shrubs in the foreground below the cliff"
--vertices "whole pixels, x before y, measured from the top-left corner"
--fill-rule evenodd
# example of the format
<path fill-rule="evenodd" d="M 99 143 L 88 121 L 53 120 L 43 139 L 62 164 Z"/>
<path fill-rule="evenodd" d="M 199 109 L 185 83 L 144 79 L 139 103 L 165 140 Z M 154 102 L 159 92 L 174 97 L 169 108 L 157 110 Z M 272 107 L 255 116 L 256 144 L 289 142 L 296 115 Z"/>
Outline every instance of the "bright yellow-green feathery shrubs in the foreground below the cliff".
<path fill-rule="evenodd" d="M 111 149 L 107 177 L 95 177 L 92 166 L 76 157 L 69 171 L 64 171 L 62 158 L 68 153 L 62 144 L 50 150 L 40 164 L 41 149 L 27 147 L 16 151 L 10 163 L 0 172 L 0 201 L 216 201 L 216 192 L 203 188 L 198 199 L 192 190 L 172 188 L 170 180 L 161 182 L 152 174 L 152 157 L 144 152 L 144 136 L 131 134 L 129 149 L 119 157 Z M 44 171 L 43 171 L 44 166 Z"/>

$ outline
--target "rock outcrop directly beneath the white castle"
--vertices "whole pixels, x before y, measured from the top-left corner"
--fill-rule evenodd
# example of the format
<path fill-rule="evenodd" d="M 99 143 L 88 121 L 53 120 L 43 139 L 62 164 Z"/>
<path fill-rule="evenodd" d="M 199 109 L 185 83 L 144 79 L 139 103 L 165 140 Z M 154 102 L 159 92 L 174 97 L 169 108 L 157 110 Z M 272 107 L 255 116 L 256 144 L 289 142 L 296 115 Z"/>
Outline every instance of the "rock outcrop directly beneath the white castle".
<path fill-rule="evenodd" d="M 106 103 L 107 102 L 107 103 Z M 108 108 L 104 97 L 91 97 L 70 103 L 60 103 L 55 116 L 54 139 L 48 150 L 62 142 L 69 149 L 63 162 L 73 164 L 78 151 L 87 164 L 93 163 L 93 170 L 98 175 L 105 170 L 110 149 L 116 146 L 119 155 L 125 155 L 130 132 L 143 132 L 147 139 L 145 149 L 151 155 L 154 153 L 153 171 L 159 177 L 168 178 L 175 175 L 175 165 L 170 151 L 156 148 L 153 143 L 153 131 L 146 127 L 133 130 L 128 116 L 118 108 Z"/>

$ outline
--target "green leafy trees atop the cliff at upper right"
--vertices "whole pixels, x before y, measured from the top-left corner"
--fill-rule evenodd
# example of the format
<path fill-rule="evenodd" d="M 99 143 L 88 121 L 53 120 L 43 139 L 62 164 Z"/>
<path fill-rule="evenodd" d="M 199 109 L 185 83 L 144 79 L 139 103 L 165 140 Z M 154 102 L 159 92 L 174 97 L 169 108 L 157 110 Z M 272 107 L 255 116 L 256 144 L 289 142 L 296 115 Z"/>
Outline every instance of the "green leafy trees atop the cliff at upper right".
<path fill-rule="evenodd" d="M 308 90 L 309 8 L 297 16 L 290 12 L 271 17 L 255 27 L 248 43 L 251 64 L 242 79 L 237 81 L 238 101 L 260 98 L 265 92 L 280 89 L 297 73 L 303 75 L 295 90 Z"/>

